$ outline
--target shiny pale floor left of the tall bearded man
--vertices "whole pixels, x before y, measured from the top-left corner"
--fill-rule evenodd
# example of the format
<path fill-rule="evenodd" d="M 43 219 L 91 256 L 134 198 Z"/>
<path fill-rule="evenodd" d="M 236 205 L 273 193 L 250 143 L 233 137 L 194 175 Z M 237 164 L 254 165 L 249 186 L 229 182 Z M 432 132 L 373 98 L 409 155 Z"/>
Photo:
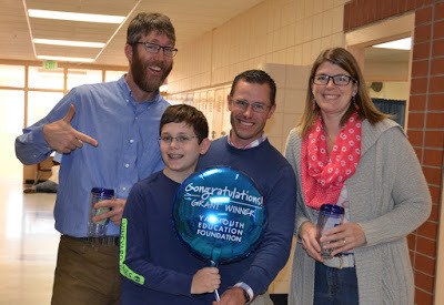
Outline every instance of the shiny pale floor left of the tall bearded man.
<path fill-rule="evenodd" d="M 50 304 L 59 244 L 56 194 L 23 194 L 21 176 L 0 175 L 0 304 Z"/>

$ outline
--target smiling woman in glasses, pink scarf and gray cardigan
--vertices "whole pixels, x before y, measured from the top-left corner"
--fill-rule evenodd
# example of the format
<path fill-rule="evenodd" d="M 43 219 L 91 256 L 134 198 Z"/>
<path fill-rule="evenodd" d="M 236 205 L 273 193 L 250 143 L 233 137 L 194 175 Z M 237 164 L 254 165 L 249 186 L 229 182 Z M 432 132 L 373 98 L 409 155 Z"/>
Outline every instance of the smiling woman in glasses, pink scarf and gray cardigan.
<path fill-rule="evenodd" d="M 430 215 L 428 189 L 403 129 L 375 109 L 345 49 L 315 60 L 285 156 L 297 177 L 290 304 L 413 304 L 406 235 Z M 341 206 L 344 221 L 319 237 L 323 204 Z"/>

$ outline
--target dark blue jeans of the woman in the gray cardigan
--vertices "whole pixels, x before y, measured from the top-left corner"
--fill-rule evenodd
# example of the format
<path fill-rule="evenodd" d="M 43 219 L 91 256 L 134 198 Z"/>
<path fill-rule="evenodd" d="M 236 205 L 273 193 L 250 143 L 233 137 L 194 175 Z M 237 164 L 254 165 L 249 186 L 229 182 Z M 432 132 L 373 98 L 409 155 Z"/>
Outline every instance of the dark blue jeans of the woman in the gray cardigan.
<path fill-rule="evenodd" d="M 356 268 L 332 268 L 316 262 L 313 304 L 359 304 Z"/>

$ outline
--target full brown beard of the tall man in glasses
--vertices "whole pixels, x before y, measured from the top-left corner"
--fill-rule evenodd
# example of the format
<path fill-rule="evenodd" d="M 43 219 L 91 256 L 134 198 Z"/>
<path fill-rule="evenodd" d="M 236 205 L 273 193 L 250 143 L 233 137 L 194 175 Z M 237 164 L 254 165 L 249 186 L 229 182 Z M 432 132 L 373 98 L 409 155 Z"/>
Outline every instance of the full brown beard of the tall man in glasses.
<path fill-rule="evenodd" d="M 155 65 L 163 71 L 163 73 L 159 77 L 148 75 L 147 69 L 150 65 Z M 138 52 L 133 53 L 132 62 L 131 62 L 131 73 L 134 80 L 134 83 L 145 92 L 155 92 L 162 85 L 163 81 L 170 74 L 173 64 L 168 64 L 164 61 L 150 60 L 148 62 L 143 62 Z"/>

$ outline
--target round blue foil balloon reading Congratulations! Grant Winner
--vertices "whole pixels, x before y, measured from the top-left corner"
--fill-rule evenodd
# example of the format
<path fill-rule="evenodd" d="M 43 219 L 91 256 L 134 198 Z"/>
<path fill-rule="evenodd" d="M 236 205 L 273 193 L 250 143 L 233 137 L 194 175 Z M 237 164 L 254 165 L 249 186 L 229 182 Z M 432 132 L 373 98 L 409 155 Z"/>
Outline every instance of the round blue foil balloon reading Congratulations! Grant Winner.
<path fill-rule="evenodd" d="M 175 195 L 173 224 L 196 256 L 224 264 L 250 255 L 266 227 L 264 197 L 252 179 L 218 166 L 190 175 Z"/>

